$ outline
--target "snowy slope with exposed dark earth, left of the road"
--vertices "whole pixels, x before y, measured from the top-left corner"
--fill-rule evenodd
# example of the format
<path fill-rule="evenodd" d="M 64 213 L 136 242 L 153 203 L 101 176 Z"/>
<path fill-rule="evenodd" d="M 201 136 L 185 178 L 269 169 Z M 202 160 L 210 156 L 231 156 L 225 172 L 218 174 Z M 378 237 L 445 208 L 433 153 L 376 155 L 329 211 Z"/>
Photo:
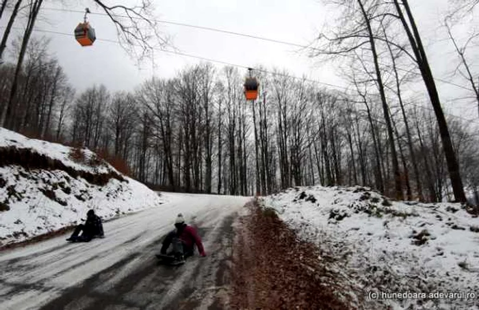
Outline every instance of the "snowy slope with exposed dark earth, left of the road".
<path fill-rule="evenodd" d="M 162 202 L 86 148 L 0 128 L 0 246 L 79 224 L 88 209 L 106 220 Z"/>

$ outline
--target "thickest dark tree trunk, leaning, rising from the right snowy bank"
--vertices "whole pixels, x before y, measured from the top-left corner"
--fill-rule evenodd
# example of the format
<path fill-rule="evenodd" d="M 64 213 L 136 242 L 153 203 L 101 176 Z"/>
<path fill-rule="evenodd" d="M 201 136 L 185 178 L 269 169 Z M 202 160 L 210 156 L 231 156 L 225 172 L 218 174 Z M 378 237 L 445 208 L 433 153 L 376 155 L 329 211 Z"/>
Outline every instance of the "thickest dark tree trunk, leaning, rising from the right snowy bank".
<path fill-rule="evenodd" d="M 413 49 L 413 52 L 415 54 L 417 65 L 419 66 L 419 70 L 421 70 L 422 79 L 424 80 L 424 85 L 428 90 L 432 108 L 435 112 L 437 125 L 439 126 L 439 132 L 441 133 L 441 142 L 443 144 L 445 160 L 448 164 L 448 172 L 451 179 L 454 198 L 458 202 L 465 203 L 467 199 L 464 193 L 463 181 L 461 179 L 459 165 L 456 159 L 456 155 L 454 153 L 454 147 L 452 146 L 452 141 L 448 129 L 448 122 L 446 122 L 445 120 L 443 109 L 441 107 L 441 101 L 439 100 L 439 94 L 436 88 L 436 83 L 434 77 L 432 76 L 432 71 L 429 66 L 426 51 L 424 50 L 424 46 L 422 44 L 421 36 L 419 36 L 419 31 L 417 29 L 417 25 L 411 12 L 411 8 L 409 8 L 408 1 L 402 0 L 404 10 L 406 10 L 406 14 L 408 16 L 408 21 L 406 21 L 406 17 L 404 16 L 402 9 L 400 8 L 400 3 L 398 2 L 398 0 L 393 1 L 396 5 L 396 10 L 398 11 L 398 15 L 400 17 L 404 30 L 406 31 L 406 34 L 409 38 L 409 42 L 411 43 L 411 48 Z M 412 33 L 411 29 L 409 28 L 409 25 L 411 25 Z"/>

